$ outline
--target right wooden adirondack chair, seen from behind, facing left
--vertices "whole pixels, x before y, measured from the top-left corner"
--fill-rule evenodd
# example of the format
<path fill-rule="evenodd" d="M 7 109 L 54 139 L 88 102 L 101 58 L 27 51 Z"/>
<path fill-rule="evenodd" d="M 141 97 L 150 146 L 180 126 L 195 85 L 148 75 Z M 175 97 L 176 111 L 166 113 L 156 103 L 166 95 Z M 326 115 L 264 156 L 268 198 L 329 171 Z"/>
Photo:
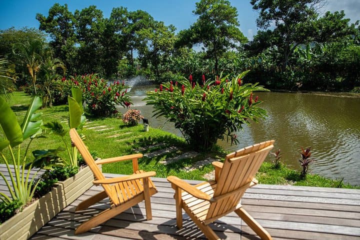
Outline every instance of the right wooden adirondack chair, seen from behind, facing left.
<path fill-rule="evenodd" d="M 271 239 L 270 234 L 242 208 L 239 201 L 245 190 L 257 183 L 253 177 L 272 149 L 273 142 L 264 141 L 229 153 L 224 163 L 212 162 L 215 180 L 192 186 L 176 176 L 168 176 L 167 180 L 175 189 L 177 227 L 182 228 L 183 208 L 207 239 L 219 239 L 208 224 L 235 211 L 261 239 Z"/>

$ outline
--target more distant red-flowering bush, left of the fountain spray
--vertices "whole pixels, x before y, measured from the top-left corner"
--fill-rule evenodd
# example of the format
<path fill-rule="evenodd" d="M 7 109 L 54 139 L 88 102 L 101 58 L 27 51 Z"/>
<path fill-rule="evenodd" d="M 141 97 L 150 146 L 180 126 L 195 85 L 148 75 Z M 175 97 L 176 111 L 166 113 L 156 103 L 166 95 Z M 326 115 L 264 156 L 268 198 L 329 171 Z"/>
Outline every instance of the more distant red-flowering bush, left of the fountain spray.
<path fill-rule="evenodd" d="M 92 116 L 113 116 L 117 113 L 116 105 L 130 106 L 128 86 L 119 80 L 108 82 L 98 74 L 70 76 L 67 83 L 82 90 L 85 110 Z"/>

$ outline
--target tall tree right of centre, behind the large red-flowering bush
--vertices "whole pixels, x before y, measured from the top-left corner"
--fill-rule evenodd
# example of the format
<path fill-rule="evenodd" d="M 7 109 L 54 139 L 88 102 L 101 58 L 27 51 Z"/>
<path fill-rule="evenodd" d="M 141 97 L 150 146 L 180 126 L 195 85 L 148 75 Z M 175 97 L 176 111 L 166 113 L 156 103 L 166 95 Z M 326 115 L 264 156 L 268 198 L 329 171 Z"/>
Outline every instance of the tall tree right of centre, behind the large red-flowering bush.
<path fill-rule="evenodd" d="M 215 60 L 218 74 L 218 59 L 224 52 L 247 41 L 238 28 L 237 10 L 228 0 L 200 0 L 193 13 L 198 19 L 179 32 L 177 45 L 202 43 L 207 57 Z"/>

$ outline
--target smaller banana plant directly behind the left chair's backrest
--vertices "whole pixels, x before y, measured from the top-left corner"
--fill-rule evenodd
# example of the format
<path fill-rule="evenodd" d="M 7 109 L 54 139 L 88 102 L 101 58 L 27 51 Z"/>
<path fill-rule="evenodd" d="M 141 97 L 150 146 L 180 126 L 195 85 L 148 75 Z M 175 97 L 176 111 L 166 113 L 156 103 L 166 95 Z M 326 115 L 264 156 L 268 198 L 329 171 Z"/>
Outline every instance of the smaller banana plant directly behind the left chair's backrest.
<path fill-rule="evenodd" d="M 86 117 L 83 115 L 82 107 L 82 92 L 78 87 L 71 88 L 72 96 L 67 96 L 68 102 L 68 125 L 70 128 L 82 128 L 85 123 Z M 58 121 L 51 121 L 44 124 L 44 126 L 52 131 L 52 133 L 61 137 L 68 154 L 68 160 L 65 161 L 66 165 L 77 167 L 77 148 L 68 144 L 65 140 L 66 131 L 62 124 Z"/>

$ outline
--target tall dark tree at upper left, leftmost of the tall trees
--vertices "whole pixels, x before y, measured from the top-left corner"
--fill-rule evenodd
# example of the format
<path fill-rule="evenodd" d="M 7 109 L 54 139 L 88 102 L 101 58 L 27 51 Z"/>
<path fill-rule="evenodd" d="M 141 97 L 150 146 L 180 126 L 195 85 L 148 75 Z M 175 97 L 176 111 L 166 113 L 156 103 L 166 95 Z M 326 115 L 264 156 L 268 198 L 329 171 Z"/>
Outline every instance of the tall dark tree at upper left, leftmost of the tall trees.
<path fill-rule="evenodd" d="M 76 19 L 68 10 L 67 4 L 53 4 L 48 16 L 37 13 L 36 19 L 40 22 L 39 29 L 50 34 L 50 45 L 54 49 L 55 57 L 62 59 L 66 69 L 75 70 L 76 58 Z"/>

